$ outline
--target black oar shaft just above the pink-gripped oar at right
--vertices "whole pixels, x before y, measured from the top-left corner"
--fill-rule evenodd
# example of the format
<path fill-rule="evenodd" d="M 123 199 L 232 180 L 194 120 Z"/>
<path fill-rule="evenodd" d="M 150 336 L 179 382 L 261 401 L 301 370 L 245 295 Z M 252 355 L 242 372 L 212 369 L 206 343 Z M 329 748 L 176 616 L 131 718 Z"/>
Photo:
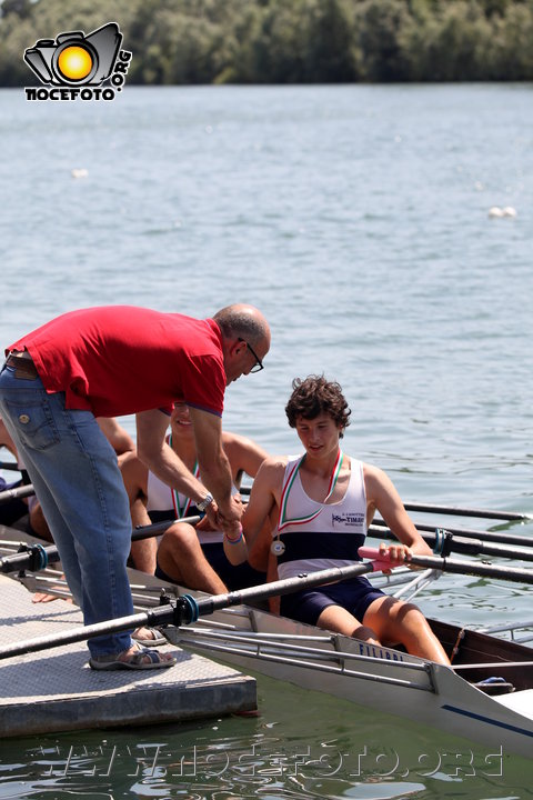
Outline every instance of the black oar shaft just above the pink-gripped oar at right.
<path fill-rule="evenodd" d="M 382 528 L 382 526 L 386 526 L 386 523 L 382 522 L 381 520 L 374 520 L 374 522 L 369 528 L 369 534 L 375 537 L 376 539 L 396 540 L 396 537 L 391 531 L 391 529 L 386 527 Z M 416 530 L 431 531 L 421 532 L 420 534 L 422 539 L 428 542 L 428 544 L 431 544 L 431 547 L 436 553 L 442 552 L 440 548 L 435 549 L 435 542 L 438 541 L 439 537 L 434 528 L 431 528 L 430 526 L 418 524 Z M 519 544 L 525 548 L 533 548 L 533 539 L 526 539 L 526 537 L 514 537 L 511 534 L 503 537 L 494 534 L 494 537 L 492 537 L 492 531 L 473 531 L 463 530 L 462 528 L 446 528 L 445 533 L 452 534 L 450 537 L 450 552 L 469 553 L 470 556 L 501 556 L 502 558 L 533 561 L 533 550 L 520 550 L 509 547 L 509 544 Z M 476 537 L 483 538 L 481 539 Z"/>

